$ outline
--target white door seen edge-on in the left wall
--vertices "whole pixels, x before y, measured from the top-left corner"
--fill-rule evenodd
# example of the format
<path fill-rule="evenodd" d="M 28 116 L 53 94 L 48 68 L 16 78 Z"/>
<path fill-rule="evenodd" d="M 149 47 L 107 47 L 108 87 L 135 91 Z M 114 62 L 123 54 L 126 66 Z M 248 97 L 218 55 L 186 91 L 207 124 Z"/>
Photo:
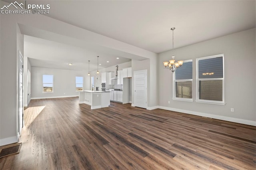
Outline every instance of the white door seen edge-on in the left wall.
<path fill-rule="evenodd" d="M 18 61 L 18 135 L 23 127 L 23 57 L 19 53 Z"/>

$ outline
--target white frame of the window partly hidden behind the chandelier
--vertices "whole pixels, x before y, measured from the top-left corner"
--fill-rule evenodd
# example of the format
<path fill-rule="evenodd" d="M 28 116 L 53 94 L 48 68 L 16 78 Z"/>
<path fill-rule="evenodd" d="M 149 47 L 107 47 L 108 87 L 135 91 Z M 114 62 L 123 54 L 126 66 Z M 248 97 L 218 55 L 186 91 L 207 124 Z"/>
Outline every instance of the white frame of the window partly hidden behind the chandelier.
<path fill-rule="evenodd" d="M 190 62 L 190 61 L 192 62 L 192 71 L 193 71 L 193 60 L 192 59 L 185 60 L 185 61 L 183 61 L 183 63 Z M 182 69 L 182 67 L 180 69 Z M 175 73 L 173 74 L 172 77 L 173 77 L 172 100 L 193 102 L 193 77 L 192 77 L 192 79 L 175 80 Z M 192 98 L 191 99 L 176 97 L 176 82 L 179 82 L 179 81 L 182 81 L 182 82 L 183 81 L 191 81 L 192 82 Z"/>

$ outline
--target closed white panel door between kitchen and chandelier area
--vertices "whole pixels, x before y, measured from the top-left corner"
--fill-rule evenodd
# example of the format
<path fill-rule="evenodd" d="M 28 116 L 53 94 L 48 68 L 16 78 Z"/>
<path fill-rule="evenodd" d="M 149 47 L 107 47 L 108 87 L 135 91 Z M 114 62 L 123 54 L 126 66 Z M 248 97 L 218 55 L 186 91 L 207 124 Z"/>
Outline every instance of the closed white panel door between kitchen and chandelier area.
<path fill-rule="evenodd" d="M 147 109 L 147 70 L 134 71 L 134 106 Z"/>

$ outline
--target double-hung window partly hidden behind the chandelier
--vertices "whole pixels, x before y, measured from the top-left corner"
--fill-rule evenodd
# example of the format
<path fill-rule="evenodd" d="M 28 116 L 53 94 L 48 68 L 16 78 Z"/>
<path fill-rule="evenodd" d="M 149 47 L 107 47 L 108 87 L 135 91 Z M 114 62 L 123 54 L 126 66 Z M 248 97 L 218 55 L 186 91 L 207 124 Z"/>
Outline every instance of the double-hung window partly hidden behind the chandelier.
<path fill-rule="evenodd" d="M 192 100 L 192 60 L 183 62 L 182 68 L 174 72 L 173 100 Z"/>

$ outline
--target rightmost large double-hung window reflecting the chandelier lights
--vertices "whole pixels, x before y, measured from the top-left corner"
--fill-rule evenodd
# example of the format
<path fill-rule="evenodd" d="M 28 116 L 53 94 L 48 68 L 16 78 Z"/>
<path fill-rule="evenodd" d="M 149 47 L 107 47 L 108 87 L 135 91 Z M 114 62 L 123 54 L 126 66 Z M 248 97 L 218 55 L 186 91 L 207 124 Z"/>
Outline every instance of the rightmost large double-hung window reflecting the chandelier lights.
<path fill-rule="evenodd" d="M 224 55 L 196 59 L 196 102 L 224 105 Z"/>

